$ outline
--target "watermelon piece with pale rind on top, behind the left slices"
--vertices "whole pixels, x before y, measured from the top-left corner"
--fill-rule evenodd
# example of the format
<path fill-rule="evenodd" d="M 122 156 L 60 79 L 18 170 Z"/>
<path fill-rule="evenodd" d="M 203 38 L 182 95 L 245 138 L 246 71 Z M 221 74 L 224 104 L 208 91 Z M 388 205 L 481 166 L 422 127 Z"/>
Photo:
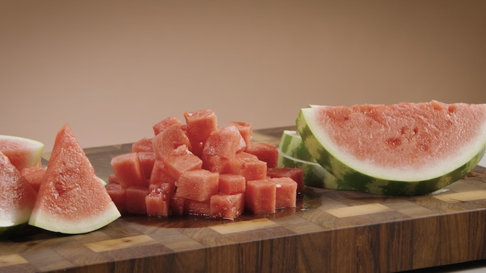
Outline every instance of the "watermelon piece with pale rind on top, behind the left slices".
<path fill-rule="evenodd" d="M 38 166 L 44 143 L 19 136 L 0 135 L 0 152 L 17 170 Z"/>

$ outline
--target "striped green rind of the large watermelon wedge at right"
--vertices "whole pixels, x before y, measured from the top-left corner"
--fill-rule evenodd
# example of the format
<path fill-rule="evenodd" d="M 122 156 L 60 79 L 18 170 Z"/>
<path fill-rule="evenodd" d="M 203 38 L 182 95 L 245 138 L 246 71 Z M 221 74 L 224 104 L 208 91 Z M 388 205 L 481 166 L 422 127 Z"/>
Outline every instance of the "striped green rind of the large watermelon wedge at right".
<path fill-rule="evenodd" d="M 462 179 L 477 166 L 485 155 L 486 142 L 467 163 L 438 177 L 418 181 L 401 181 L 373 177 L 355 170 L 329 152 L 319 139 L 315 137 L 314 132 L 312 132 L 305 119 L 303 110 L 301 109 L 296 118 L 296 131 L 301 135 L 302 141 L 305 147 L 308 148 L 310 155 L 331 175 L 340 179 L 342 183 L 351 188 L 355 188 L 357 191 L 394 196 L 426 195 Z"/>

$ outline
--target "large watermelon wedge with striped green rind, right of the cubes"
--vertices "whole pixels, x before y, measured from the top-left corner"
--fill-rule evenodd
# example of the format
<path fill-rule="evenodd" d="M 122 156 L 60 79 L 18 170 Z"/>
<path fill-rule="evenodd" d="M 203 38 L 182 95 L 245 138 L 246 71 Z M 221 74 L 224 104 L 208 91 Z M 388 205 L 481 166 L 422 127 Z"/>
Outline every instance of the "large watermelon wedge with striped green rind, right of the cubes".
<path fill-rule="evenodd" d="M 321 166 L 358 191 L 423 195 L 467 175 L 485 154 L 486 104 L 308 107 L 297 132 Z"/>

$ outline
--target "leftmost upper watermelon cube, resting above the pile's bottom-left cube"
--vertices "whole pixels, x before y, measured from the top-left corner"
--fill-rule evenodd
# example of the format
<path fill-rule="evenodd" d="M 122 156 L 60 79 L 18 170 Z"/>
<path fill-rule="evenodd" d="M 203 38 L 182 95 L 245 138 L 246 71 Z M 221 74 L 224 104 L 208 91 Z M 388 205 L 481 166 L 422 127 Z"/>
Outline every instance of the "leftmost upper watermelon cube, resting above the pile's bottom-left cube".
<path fill-rule="evenodd" d="M 129 186 L 148 186 L 140 159 L 136 152 L 117 155 L 111 159 L 111 167 L 118 182 L 124 188 Z"/>

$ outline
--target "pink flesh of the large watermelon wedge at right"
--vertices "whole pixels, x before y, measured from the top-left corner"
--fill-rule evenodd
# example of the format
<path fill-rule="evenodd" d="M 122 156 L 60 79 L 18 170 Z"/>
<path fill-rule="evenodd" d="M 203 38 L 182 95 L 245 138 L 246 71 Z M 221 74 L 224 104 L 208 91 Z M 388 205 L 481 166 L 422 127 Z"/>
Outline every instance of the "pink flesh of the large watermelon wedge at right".
<path fill-rule="evenodd" d="M 485 105 L 432 101 L 319 107 L 317 121 L 330 141 L 355 160 L 395 173 L 403 168 L 405 173 L 427 173 L 430 168 L 440 169 L 437 165 L 450 169 L 448 161 L 460 157 L 458 151 L 472 150 L 464 143 L 478 143 L 475 138 L 485 130 L 478 125 L 485 115 Z M 469 159 L 466 154 L 458 160 L 465 164 Z"/>

